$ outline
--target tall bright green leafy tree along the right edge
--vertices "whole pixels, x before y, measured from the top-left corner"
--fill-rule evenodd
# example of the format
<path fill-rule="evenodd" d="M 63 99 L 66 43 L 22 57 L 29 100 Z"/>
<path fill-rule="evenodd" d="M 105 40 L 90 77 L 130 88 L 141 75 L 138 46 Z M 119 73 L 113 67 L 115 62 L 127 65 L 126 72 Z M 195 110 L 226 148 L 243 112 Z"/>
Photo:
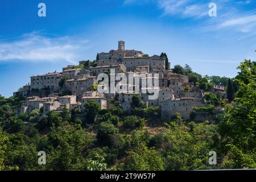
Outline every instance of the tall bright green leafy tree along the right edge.
<path fill-rule="evenodd" d="M 222 167 L 256 168 L 256 62 L 245 60 L 238 69 L 240 89 L 218 125 L 225 156 Z"/>

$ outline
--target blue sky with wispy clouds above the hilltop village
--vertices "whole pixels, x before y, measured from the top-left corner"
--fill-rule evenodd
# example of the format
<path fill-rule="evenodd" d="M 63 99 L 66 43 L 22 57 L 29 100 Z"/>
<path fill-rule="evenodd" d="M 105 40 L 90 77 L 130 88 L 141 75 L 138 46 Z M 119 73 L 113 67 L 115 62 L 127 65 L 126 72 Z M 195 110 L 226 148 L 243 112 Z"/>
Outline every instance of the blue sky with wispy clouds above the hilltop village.
<path fill-rule="evenodd" d="M 46 4 L 46 17 L 38 4 Z M 208 15 L 209 3 L 217 17 Z M 97 52 L 166 52 L 202 75 L 234 77 L 244 59 L 256 60 L 256 2 L 193 0 L 1 0 L 0 94 L 9 97 L 30 76 L 61 72 Z"/>

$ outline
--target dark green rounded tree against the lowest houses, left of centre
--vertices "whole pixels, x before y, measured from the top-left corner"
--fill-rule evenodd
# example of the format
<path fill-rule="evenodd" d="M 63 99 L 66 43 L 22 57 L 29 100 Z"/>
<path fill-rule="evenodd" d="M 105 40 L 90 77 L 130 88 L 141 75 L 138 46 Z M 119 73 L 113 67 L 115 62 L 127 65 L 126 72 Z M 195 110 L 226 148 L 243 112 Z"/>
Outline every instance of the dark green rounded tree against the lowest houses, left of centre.
<path fill-rule="evenodd" d="M 96 115 L 101 110 L 100 105 L 96 101 L 91 100 L 91 101 L 86 102 L 84 107 L 85 107 L 86 122 L 93 123 L 96 118 Z"/>

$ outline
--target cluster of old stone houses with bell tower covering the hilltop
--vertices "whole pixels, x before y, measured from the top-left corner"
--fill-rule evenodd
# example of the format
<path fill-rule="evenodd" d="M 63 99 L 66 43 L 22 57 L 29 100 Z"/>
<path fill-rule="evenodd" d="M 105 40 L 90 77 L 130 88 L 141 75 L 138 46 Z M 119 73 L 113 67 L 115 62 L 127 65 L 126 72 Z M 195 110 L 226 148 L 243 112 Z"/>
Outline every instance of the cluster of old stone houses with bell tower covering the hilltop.
<path fill-rule="evenodd" d="M 84 64 L 84 61 L 80 61 L 79 64 Z M 152 84 L 151 87 L 158 90 L 158 98 L 151 99 L 152 93 L 144 90 L 147 88 L 143 87 L 143 77 L 139 78 L 138 85 L 119 84 L 123 92 L 99 93 L 95 89 L 102 81 L 98 80 L 98 75 L 109 75 L 112 70 L 115 75 L 123 74 L 127 77 L 154 77 L 157 73 L 158 85 Z M 118 82 L 114 80 L 114 84 L 116 86 Z M 224 86 L 214 85 L 212 92 L 225 93 Z M 147 106 L 159 106 L 163 119 L 170 119 L 175 113 L 189 119 L 193 107 L 205 105 L 203 90 L 189 82 L 188 76 L 173 73 L 171 69 L 167 70 L 165 57 L 148 56 L 142 51 L 127 50 L 123 41 L 118 42 L 117 50 L 99 53 L 96 67 L 82 69 L 79 65 L 68 65 L 61 73 L 55 71 L 31 76 L 30 84 L 24 85 L 14 93 L 14 96 L 22 95 L 26 98 L 25 104 L 19 109 L 20 113 L 42 109 L 43 114 L 47 114 L 52 110 L 61 112 L 64 108 L 78 108 L 83 112 L 84 105 L 90 100 L 96 101 L 101 109 L 106 109 L 110 100 L 118 100 L 121 103 L 120 107 L 124 111 L 129 111 L 134 94 L 139 94 Z"/>

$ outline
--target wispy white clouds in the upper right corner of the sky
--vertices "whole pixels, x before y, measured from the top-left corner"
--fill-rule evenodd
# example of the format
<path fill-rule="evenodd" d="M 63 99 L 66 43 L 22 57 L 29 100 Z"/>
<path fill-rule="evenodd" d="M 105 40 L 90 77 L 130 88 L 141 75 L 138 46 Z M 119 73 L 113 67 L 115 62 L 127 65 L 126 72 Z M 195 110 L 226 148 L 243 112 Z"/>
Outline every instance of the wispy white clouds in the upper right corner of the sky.
<path fill-rule="evenodd" d="M 161 16 L 176 18 L 200 18 L 200 30 L 218 31 L 223 29 L 253 33 L 256 30 L 255 0 L 215 0 L 217 16 L 209 17 L 209 2 L 203 0 L 125 0 L 125 5 L 134 3 L 155 3 L 163 11 Z M 250 8 L 249 8 L 250 6 Z M 250 9 L 250 10 L 249 10 Z"/>

